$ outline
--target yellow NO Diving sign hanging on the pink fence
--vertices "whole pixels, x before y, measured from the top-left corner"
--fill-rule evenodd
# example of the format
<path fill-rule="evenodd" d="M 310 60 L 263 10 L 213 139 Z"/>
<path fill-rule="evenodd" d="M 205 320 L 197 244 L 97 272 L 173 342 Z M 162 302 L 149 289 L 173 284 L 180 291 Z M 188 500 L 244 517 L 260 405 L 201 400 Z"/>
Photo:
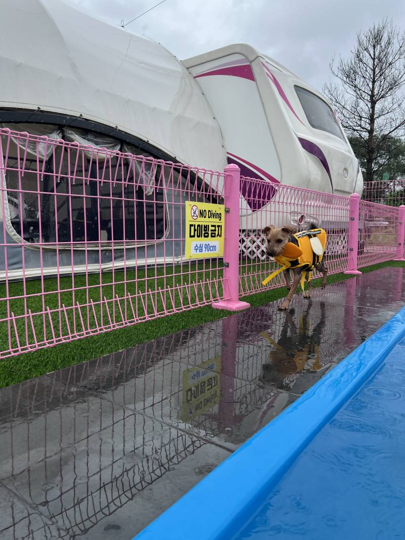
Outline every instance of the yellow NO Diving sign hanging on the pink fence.
<path fill-rule="evenodd" d="M 225 206 L 186 201 L 186 259 L 224 256 Z"/>

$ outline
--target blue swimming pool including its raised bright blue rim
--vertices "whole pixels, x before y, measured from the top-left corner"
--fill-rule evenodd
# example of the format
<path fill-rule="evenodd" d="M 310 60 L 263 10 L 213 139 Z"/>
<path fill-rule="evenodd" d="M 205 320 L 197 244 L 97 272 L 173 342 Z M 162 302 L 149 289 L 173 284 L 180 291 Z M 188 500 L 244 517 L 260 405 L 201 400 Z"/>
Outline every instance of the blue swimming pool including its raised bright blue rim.
<path fill-rule="evenodd" d="M 404 443 L 402 308 L 137 538 L 403 538 Z"/>

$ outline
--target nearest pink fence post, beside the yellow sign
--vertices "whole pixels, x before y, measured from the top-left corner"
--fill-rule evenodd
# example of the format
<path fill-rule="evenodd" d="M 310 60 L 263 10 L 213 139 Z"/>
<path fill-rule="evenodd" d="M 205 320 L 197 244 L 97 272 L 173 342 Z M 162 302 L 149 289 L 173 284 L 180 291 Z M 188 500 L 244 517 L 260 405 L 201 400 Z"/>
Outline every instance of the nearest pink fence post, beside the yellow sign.
<path fill-rule="evenodd" d="M 224 298 L 212 304 L 215 309 L 240 311 L 250 307 L 239 300 L 239 197 L 240 169 L 231 164 L 224 171 L 225 214 Z"/>

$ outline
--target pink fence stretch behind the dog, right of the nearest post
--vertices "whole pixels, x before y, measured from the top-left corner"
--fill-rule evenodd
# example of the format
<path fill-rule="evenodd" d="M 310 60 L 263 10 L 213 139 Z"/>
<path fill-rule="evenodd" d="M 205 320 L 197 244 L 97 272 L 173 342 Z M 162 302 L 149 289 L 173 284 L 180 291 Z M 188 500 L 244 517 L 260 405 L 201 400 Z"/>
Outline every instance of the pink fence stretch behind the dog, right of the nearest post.
<path fill-rule="evenodd" d="M 359 267 L 403 259 L 405 215 L 402 219 L 400 215 L 404 211 L 405 207 L 359 200 L 357 194 L 342 197 L 241 177 L 240 293 L 284 286 L 282 274 L 262 286 L 262 280 L 278 267 L 266 260 L 265 226 L 292 224 L 305 230 L 313 223 L 325 228 L 328 273 L 360 274 Z"/>

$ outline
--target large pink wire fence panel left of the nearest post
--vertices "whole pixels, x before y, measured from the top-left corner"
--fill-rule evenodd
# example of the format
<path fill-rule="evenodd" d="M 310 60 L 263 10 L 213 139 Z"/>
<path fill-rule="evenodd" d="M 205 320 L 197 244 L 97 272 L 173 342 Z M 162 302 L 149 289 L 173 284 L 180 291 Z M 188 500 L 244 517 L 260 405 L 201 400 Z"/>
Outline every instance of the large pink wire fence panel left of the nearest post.
<path fill-rule="evenodd" d="M 0 358 L 223 299 L 185 260 L 185 203 L 219 172 L 0 130 Z"/>

